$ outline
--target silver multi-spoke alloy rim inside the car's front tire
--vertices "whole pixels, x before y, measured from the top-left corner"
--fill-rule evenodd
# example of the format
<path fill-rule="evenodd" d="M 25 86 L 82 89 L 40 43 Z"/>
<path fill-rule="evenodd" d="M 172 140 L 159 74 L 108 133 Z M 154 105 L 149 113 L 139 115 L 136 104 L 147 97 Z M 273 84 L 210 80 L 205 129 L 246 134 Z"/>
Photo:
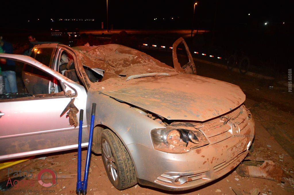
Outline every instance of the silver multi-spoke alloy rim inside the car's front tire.
<path fill-rule="evenodd" d="M 106 165 L 106 171 L 110 174 L 115 181 L 117 179 L 117 167 L 114 157 L 112 155 L 110 146 L 106 140 L 102 141 L 103 160 Z"/>

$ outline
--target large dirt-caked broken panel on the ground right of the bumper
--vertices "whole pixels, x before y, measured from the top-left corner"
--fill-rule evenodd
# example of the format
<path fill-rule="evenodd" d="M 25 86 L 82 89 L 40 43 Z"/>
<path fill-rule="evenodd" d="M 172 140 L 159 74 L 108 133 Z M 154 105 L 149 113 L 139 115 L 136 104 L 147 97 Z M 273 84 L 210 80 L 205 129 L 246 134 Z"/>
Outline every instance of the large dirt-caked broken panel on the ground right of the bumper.
<path fill-rule="evenodd" d="M 265 160 L 264 162 L 244 161 L 236 171 L 242 177 L 258 177 L 276 182 L 281 182 L 283 174 L 282 168 L 271 160 Z"/>

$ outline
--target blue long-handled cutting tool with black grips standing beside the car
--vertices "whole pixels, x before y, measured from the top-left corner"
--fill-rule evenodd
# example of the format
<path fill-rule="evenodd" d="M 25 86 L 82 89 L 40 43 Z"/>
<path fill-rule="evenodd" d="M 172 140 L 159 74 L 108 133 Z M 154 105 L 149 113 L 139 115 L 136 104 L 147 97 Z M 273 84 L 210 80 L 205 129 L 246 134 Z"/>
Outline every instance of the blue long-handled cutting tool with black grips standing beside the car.
<path fill-rule="evenodd" d="M 83 113 L 84 111 L 80 110 L 80 123 L 78 128 L 78 181 L 76 182 L 76 194 L 85 195 L 87 193 L 87 183 L 88 183 L 88 174 L 89 174 L 89 165 L 90 165 L 90 157 L 91 157 L 91 148 L 93 141 L 93 129 L 94 129 L 94 119 L 96 112 L 96 104 L 92 104 L 92 114 L 91 114 L 91 125 L 90 125 L 90 133 L 89 133 L 89 143 L 86 157 L 86 165 L 85 165 L 85 173 L 84 180 L 81 181 L 81 160 L 82 160 L 82 126 L 83 126 Z"/>

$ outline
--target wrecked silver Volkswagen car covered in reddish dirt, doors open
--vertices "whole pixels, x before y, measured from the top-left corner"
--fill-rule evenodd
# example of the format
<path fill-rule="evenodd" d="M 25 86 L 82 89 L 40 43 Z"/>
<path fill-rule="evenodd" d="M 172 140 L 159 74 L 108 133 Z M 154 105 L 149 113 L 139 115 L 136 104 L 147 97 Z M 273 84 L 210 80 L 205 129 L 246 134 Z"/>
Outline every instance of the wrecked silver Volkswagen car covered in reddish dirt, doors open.
<path fill-rule="evenodd" d="M 92 151 L 102 154 L 117 189 L 139 183 L 180 191 L 225 175 L 246 157 L 254 136 L 245 94 L 196 75 L 188 47 L 189 62 L 181 66 L 180 43 L 186 46 L 174 43 L 174 68 L 116 44 L 42 44 L 31 57 L 0 54 L 25 64 L 31 95 L 0 100 L 0 160 L 77 148 L 80 109 L 86 146 L 96 103 Z"/>

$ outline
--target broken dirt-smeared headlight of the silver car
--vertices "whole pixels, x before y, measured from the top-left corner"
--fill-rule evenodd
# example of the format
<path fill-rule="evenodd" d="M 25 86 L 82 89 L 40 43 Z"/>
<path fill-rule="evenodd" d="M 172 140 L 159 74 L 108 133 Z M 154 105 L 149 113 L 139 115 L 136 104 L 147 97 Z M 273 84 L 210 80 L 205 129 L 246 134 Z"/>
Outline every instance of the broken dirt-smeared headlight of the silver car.
<path fill-rule="evenodd" d="M 156 150 L 171 153 L 188 152 L 193 148 L 208 144 L 199 130 L 163 128 L 151 130 L 151 139 Z"/>

